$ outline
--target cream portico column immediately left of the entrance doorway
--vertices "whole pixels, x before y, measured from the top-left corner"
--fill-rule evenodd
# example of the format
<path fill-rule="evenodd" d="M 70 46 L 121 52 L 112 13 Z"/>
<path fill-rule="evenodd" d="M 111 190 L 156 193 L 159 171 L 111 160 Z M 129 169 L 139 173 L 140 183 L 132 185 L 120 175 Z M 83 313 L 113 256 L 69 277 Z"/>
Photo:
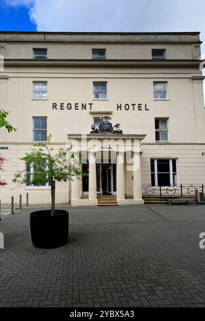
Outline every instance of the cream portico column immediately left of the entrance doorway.
<path fill-rule="evenodd" d="M 96 154 L 90 152 L 88 155 L 89 160 L 89 200 L 97 204 L 97 188 L 96 188 Z"/>

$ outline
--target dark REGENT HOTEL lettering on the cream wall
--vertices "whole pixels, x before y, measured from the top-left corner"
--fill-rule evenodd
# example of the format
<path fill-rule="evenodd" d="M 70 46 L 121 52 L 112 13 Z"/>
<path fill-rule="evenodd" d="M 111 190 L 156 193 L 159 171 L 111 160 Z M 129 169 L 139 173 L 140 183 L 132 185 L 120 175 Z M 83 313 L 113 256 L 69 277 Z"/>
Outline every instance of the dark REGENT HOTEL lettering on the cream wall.
<path fill-rule="evenodd" d="M 83 111 L 89 110 L 92 111 L 92 107 L 94 104 L 92 102 L 60 102 L 57 104 L 53 102 L 52 104 L 53 110 L 76 110 Z M 117 111 L 149 111 L 147 104 L 116 104 Z"/>

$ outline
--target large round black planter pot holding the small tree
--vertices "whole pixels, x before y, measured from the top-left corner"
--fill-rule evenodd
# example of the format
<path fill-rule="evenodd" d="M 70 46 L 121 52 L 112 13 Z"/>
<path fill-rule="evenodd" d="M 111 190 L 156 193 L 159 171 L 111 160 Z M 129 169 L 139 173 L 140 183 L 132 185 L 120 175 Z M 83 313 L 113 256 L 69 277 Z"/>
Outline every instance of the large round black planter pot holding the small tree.
<path fill-rule="evenodd" d="M 31 240 L 34 247 L 54 249 L 68 243 L 68 212 L 38 210 L 30 214 Z"/>

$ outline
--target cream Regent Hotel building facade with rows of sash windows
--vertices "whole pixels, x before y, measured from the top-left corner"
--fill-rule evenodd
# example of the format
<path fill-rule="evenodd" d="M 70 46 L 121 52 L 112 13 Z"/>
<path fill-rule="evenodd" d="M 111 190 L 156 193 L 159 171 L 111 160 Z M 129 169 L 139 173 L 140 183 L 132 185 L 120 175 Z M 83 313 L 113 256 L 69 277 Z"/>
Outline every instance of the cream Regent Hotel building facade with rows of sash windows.
<path fill-rule="evenodd" d="M 200 44 L 198 32 L 0 32 L 0 108 L 18 128 L 0 131 L 8 159 L 1 202 L 25 193 L 31 204 L 50 202 L 49 184 L 30 186 L 32 168 L 27 185 L 12 183 L 25 168 L 19 158 L 49 133 L 54 149 L 87 151 L 81 166 L 89 176 L 58 183 L 57 203 L 97 205 L 105 195 L 116 204 L 143 204 L 145 196 L 188 195 L 202 186 Z M 123 134 L 90 134 L 101 117 L 119 123 Z M 124 149 L 118 142 L 115 148 L 119 139 Z"/>

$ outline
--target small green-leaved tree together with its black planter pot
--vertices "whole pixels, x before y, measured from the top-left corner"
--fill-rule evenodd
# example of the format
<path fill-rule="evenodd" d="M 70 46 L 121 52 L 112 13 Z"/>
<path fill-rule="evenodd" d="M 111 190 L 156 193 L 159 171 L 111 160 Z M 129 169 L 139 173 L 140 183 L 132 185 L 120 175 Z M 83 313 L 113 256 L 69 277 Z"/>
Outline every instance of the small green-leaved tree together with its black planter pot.
<path fill-rule="evenodd" d="M 57 153 L 49 146 L 51 135 L 46 142 L 34 144 L 31 152 L 20 158 L 27 169 L 33 167 L 33 173 L 27 169 L 18 171 L 13 182 L 19 184 L 51 186 L 51 210 L 40 210 L 30 214 L 31 239 L 36 247 L 59 247 L 68 242 L 68 212 L 55 210 L 55 182 L 67 182 L 73 176 L 81 178 L 78 161 L 68 149 L 59 148 Z"/>

